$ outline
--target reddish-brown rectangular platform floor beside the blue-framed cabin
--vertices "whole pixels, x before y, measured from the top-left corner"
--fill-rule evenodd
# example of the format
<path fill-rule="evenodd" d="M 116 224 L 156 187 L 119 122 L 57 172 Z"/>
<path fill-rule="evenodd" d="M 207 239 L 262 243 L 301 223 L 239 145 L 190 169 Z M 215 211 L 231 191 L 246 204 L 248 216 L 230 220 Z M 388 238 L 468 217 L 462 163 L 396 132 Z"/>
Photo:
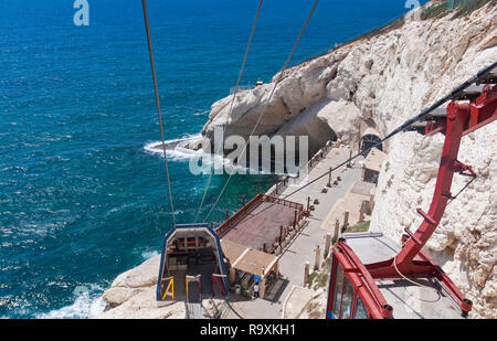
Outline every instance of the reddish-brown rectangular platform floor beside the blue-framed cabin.
<path fill-rule="evenodd" d="M 262 251 L 279 237 L 281 225 L 288 226 L 295 209 L 272 202 L 260 202 L 223 236 L 224 241 Z"/>

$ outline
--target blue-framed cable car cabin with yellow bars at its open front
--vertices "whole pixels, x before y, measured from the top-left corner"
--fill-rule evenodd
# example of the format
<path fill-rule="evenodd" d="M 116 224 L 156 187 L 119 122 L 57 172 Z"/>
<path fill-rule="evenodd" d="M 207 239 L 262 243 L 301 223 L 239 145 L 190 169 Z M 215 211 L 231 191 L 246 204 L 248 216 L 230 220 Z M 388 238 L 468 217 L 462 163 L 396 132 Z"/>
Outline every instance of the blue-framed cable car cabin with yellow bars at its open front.
<path fill-rule="evenodd" d="M 171 299 L 224 296 L 228 288 L 218 234 L 209 224 L 175 225 L 163 238 L 157 280 L 159 306 Z"/>

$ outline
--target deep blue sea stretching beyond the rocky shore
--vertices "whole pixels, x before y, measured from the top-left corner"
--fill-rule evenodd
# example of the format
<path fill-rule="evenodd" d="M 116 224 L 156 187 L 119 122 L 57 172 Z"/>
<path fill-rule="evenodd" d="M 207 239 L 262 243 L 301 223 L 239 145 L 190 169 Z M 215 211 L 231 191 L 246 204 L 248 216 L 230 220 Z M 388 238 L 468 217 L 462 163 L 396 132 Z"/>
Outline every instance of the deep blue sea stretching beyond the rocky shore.
<path fill-rule="evenodd" d="M 171 226 L 141 1 L 0 0 L 0 317 L 88 318 L 120 273 L 158 254 Z M 149 0 L 166 138 L 199 134 L 236 83 L 258 0 Z M 314 0 L 266 0 L 242 85 L 279 71 Z M 321 0 L 292 65 L 405 13 L 402 0 Z M 178 223 L 207 175 L 171 156 Z M 214 175 L 207 199 L 226 175 Z M 272 175 L 235 175 L 212 219 Z"/>

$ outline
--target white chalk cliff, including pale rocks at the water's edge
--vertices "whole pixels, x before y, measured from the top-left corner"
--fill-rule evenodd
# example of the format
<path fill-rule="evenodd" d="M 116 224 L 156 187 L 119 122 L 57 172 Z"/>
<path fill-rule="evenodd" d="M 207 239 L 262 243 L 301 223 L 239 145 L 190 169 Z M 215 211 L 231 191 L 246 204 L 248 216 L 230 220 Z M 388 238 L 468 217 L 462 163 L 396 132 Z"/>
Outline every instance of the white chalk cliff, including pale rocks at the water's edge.
<path fill-rule="evenodd" d="M 451 14 L 429 20 L 408 17 L 398 29 L 357 40 L 287 70 L 255 134 L 306 135 L 310 148 L 316 149 L 334 135 L 356 143 L 361 121 L 369 120 L 385 136 L 497 61 L 495 1 L 457 19 Z M 211 138 L 214 127 L 224 126 L 226 119 L 226 135 L 247 137 L 273 86 L 269 83 L 239 93 L 230 117 L 231 96 L 213 104 L 203 137 Z M 473 166 L 478 178 L 448 205 L 425 247 L 473 300 L 472 318 L 497 318 L 496 139 L 496 122 L 463 138 L 459 160 Z M 384 146 L 389 156 L 379 178 L 371 230 L 400 241 L 404 227 L 417 228 L 421 217 L 415 209 L 426 211 L 430 205 L 442 142 L 443 136 L 404 132 Z M 453 193 L 466 181 L 455 175 Z M 158 263 L 154 259 L 150 264 L 154 262 Z M 151 307 L 156 274 L 141 276 L 137 269 L 119 276 L 106 291 L 104 299 L 114 308 L 103 317 L 170 316 L 166 308 L 156 312 Z M 135 281 L 131 277 L 145 279 Z M 146 298 L 144 309 L 140 297 Z M 184 313 L 178 312 L 176 316 Z"/>

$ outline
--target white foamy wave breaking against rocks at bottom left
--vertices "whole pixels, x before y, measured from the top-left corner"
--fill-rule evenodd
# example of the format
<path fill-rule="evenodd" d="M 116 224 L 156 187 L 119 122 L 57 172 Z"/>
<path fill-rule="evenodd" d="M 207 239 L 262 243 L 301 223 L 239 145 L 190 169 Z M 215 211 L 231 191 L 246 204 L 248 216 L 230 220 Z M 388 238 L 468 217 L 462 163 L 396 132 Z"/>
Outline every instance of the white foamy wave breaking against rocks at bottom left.
<path fill-rule="evenodd" d="M 77 290 L 77 289 L 81 290 Z M 104 312 L 105 301 L 102 298 L 103 288 L 89 285 L 76 287 L 74 303 L 46 313 L 35 315 L 36 319 L 88 319 Z"/>

